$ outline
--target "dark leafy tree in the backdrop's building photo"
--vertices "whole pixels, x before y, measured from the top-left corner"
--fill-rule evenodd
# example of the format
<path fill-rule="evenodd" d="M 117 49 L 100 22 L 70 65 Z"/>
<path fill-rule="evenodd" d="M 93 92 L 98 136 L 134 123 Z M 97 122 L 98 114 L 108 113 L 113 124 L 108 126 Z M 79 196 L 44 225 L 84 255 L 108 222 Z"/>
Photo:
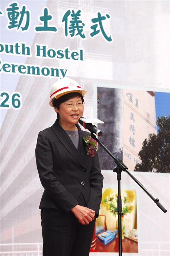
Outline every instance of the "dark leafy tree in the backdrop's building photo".
<path fill-rule="evenodd" d="M 136 172 L 170 173 L 170 116 L 158 117 L 158 134 L 151 133 L 139 152 Z"/>

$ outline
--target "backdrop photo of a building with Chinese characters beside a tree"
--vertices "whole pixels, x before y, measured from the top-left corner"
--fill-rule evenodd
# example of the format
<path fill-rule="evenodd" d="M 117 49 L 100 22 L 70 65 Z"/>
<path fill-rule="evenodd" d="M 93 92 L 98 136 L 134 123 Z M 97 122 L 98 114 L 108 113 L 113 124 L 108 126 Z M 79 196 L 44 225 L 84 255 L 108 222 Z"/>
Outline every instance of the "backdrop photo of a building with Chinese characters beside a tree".
<path fill-rule="evenodd" d="M 170 173 L 169 100 L 170 93 L 98 87 L 100 140 L 128 170 Z M 98 151 L 102 169 L 112 170 L 114 160 L 103 148 Z"/>

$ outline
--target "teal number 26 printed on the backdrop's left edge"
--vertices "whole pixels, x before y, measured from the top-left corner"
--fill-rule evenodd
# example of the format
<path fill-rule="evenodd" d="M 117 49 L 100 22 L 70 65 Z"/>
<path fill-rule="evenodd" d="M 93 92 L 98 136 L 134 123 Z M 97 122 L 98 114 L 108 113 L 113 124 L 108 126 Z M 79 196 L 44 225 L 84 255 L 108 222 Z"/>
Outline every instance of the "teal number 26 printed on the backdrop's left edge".
<path fill-rule="evenodd" d="M 21 101 L 21 94 L 18 92 L 14 92 L 12 94 L 9 94 L 8 91 L 1 91 L 0 92 L 0 108 L 4 109 L 20 109 L 22 107 L 22 101 Z"/>

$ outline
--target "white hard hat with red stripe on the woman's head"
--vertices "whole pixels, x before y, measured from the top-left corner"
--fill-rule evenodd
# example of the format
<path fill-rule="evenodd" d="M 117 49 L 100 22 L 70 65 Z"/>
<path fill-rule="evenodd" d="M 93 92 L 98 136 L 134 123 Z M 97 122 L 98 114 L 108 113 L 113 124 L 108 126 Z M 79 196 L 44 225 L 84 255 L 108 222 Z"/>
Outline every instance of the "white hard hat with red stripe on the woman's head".
<path fill-rule="evenodd" d="M 67 93 L 80 93 L 84 97 L 86 90 L 82 90 L 80 84 L 71 78 L 62 78 L 55 82 L 50 91 L 50 106 L 53 107 L 53 100 L 58 99 Z"/>

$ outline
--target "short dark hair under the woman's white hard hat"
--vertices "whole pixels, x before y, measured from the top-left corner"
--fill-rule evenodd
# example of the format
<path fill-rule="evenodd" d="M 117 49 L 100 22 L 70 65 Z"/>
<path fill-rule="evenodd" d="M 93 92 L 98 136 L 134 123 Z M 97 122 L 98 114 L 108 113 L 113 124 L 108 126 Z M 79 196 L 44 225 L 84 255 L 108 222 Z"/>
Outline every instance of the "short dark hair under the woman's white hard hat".
<path fill-rule="evenodd" d="M 54 99 L 53 107 L 59 109 L 61 103 L 68 101 L 69 99 L 80 97 L 82 102 L 84 102 L 84 98 L 80 93 L 67 93 L 59 97 L 58 99 Z M 59 114 L 57 113 L 57 119 L 59 119 Z"/>

